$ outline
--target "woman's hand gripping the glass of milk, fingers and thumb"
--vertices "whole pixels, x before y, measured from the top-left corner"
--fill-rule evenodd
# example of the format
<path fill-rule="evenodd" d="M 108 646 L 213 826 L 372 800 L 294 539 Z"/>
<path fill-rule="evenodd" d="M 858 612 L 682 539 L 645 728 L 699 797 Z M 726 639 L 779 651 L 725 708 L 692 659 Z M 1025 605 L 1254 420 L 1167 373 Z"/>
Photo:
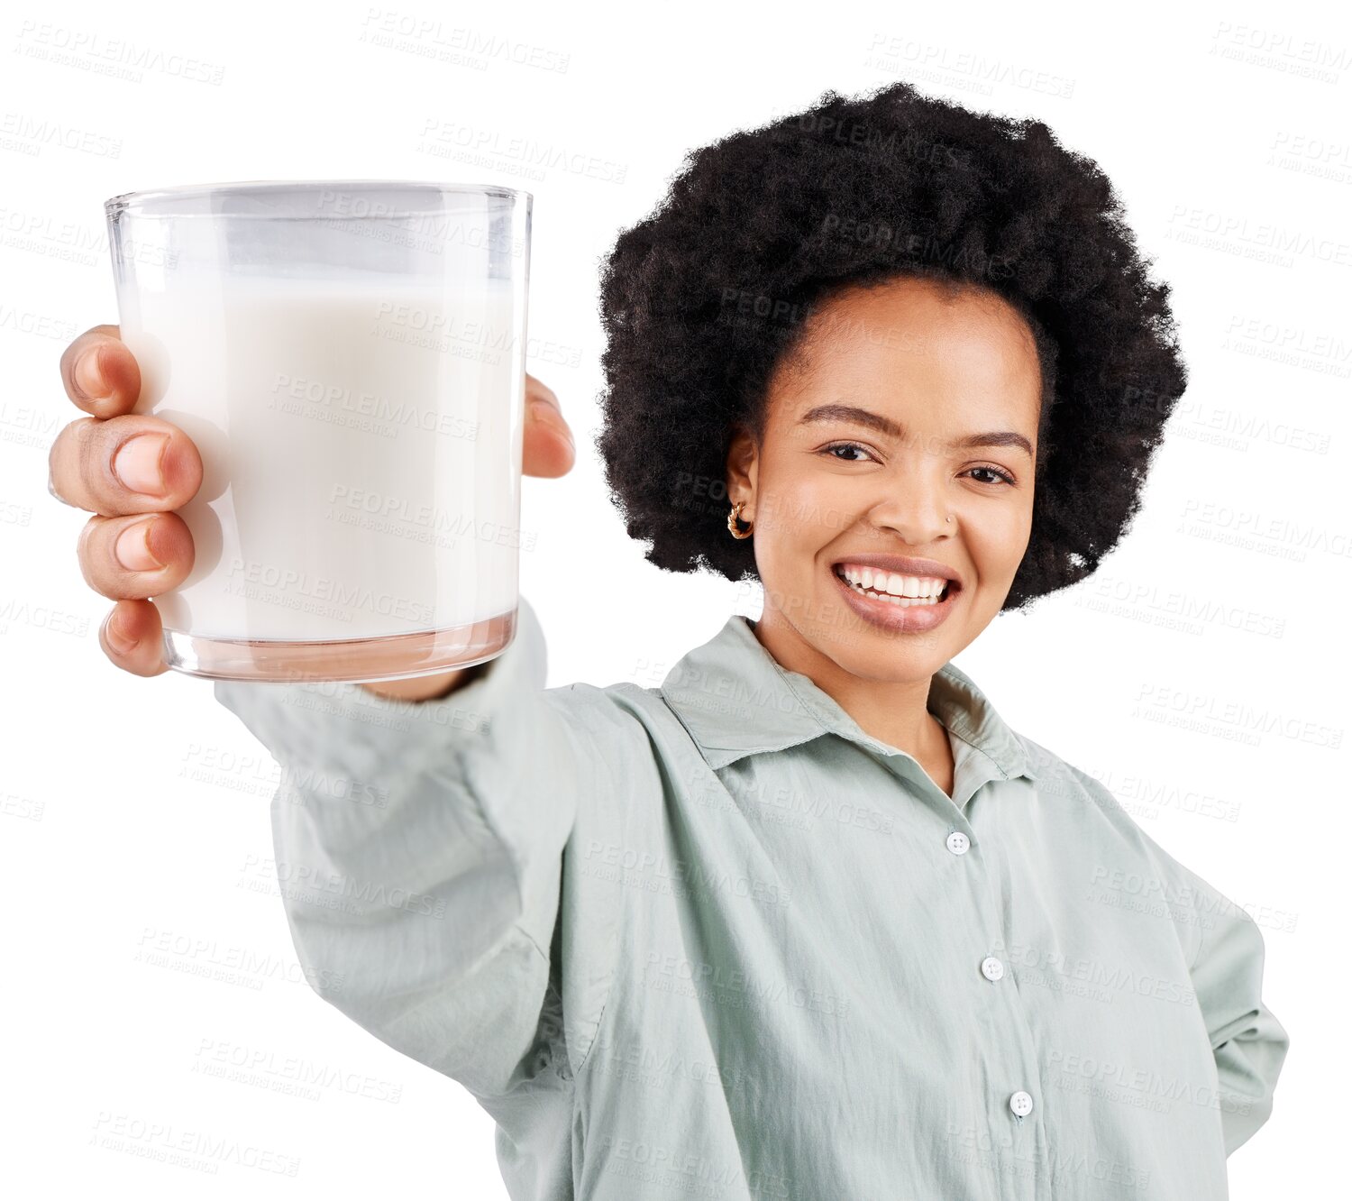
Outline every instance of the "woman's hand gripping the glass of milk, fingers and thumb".
<path fill-rule="evenodd" d="M 141 368 L 118 326 L 95 326 L 76 338 L 61 356 L 61 381 L 88 415 L 51 444 L 50 488 L 57 499 L 95 514 L 76 546 L 80 571 L 89 587 L 118 602 L 99 630 L 99 645 L 123 671 L 160 675 L 169 669 L 160 613 L 142 598 L 176 588 L 192 571 L 192 534 L 174 510 L 201 487 L 201 456 L 177 426 L 131 411 Z M 553 479 L 571 471 L 575 457 L 558 398 L 527 375 L 522 471 Z M 372 691 L 418 699 L 439 695 L 461 675 L 383 682 Z"/>

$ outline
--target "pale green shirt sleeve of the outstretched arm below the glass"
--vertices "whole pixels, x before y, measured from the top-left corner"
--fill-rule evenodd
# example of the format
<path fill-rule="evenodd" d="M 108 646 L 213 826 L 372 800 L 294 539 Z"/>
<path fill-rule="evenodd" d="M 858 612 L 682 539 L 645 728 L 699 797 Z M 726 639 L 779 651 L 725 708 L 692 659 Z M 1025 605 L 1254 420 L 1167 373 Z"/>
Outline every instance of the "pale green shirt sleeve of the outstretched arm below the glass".
<path fill-rule="evenodd" d="M 535 1070 L 557 1018 L 561 856 L 592 748 L 545 667 L 522 598 L 512 642 L 441 699 L 215 682 L 283 770 L 274 857 L 308 982 L 480 1098 Z"/>

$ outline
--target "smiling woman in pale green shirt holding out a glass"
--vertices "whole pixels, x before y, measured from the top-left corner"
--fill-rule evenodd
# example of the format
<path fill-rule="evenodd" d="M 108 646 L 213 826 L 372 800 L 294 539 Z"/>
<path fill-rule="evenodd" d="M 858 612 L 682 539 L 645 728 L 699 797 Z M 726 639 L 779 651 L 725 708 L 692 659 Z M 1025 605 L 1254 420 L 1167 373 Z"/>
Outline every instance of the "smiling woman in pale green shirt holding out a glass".
<path fill-rule="evenodd" d="M 1041 123 L 829 92 L 691 156 L 603 281 L 629 533 L 758 579 L 760 619 L 660 687 L 545 690 L 525 600 L 465 672 L 215 684 L 284 768 L 308 978 L 473 1091 L 514 1197 L 1226 1196 L 1288 1044 L 1256 925 L 950 663 L 1126 529 L 1186 383 L 1167 300 Z M 53 488 L 154 675 L 135 598 L 191 565 L 200 461 L 91 334 Z"/>

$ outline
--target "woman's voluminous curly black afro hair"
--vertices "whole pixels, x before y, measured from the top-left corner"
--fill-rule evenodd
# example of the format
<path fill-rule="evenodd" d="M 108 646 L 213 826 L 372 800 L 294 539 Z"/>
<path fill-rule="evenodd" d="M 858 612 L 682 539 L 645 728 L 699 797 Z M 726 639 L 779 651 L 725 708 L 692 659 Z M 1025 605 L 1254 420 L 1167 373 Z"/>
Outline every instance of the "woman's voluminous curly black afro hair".
<path fill-rule="evenodd" d="M 977 114 L 907 83 L 685 156 L 602 276 L 611 499 L 667 571 L 758 579 L 727 532 L 738 425 L 837 292 L 896 276 L 990 289 L 1042 368 L 1033 529 L 1005 610 L 1090 575 L 1134 518 L 1187 384 L 1169 287 L 1148 279 L 1113 185 L 1040 120 Z"/>

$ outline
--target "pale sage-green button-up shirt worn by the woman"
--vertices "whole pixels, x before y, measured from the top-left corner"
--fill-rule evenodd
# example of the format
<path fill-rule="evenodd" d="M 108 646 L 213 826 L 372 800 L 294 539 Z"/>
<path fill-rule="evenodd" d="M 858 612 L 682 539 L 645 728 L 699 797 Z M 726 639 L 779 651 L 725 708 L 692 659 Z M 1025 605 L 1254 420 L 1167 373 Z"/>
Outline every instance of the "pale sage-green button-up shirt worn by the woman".
<path fill-rule="evenodd" d="M 953 664 L 948 797 L 741 615 L 661 687 L 216 682 L 315 990 L 514 1198 L 1226 1197 L 1288 1039 L 1245 912 Z"/>

